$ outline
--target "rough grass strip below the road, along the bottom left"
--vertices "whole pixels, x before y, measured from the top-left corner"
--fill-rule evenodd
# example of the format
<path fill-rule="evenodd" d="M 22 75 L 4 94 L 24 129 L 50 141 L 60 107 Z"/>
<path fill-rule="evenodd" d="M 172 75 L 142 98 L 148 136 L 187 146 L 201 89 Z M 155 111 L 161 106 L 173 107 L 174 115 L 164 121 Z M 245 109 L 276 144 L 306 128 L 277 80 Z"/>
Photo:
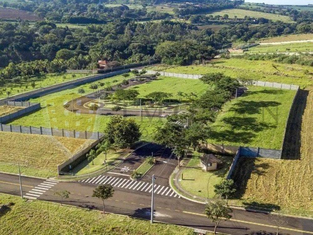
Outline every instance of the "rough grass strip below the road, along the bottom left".
<path fill-rule="evenodd" d="M 115 214 L 44 202 L 25 200 L 0 194 L 1 203 L 13 202 L 8 210 L 0 212 L 1 234 L 85 234 L 85 235 L 192 235 L 193 229 L 176 225 L 153 223 Z"/>

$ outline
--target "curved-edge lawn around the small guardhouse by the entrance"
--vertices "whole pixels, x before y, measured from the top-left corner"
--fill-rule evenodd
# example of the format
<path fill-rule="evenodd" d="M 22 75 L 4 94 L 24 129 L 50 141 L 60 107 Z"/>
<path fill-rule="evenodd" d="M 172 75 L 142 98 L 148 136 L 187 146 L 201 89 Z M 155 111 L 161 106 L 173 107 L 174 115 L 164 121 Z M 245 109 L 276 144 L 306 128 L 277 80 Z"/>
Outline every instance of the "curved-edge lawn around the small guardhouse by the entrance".
<path fill-rule="evenodd" d="M 223 164 L 216 171 L 203 171 L 200 168 L 199 153 L 194 152 L 192 159 L 182 171 L 183 180 L 179 181 L 182 188 L 189 193 L 203 198 L 213 198 L 214 185 L 220 183 L 228 172 L 233 161 L 231 156 L 217 156 Z M 182 179 L 182 174 L 179 176 Z"/>

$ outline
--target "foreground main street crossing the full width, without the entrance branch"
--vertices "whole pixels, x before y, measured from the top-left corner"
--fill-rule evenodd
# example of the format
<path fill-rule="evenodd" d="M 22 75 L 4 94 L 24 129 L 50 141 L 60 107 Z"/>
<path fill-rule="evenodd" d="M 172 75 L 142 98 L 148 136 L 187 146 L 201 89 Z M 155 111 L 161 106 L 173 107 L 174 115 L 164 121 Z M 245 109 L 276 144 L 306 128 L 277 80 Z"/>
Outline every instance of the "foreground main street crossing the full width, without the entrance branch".
<path fill-rule="evenodd" d="M 11 195 L 19 195 L 18 176 L 0 173 L 0 192 Z M 64 204 L 78 207 L 102 210 L 101 202 L 91 197 L 95 188 L 94 184 L 81 182 L 56 182 L 31 177 L 22 177 L 23 193 L 36 192 L 47 186 L 42 194 L 38 194 L 38 200 L 59 202 L 54 196 L 57 190 L 69 190 L 71 195 Z M 37 188 L 36 188 L 37 187 Z M 107 200 L 106 211 L 149 219 L 151 193 L 134 191 L 128 188 L 114 187 L 114 196 Z M 37 191 L 39 192 L 39 191 Z M 197 227 L 213 230 L 213 223 L 203 216 L 204 206 L 199 203 L 190 202 L 183 198 L 168 197 L 157 194 L 155 196 L 155 217 L 157 221 L 168 222 L 188 227 Z M 287 217 L 288 224 L 281 230 L 282 234 L 313 234 L 313 222 L 309 219 Z M 259 231 L 272 232 L 275 227 L 268 215 L 256 212 L 234 210 L 230 221 L 222 221 L 218 232 L 233 235 L 259 234 Z M 270 234 L 270 233 L 267 233 Z"/>

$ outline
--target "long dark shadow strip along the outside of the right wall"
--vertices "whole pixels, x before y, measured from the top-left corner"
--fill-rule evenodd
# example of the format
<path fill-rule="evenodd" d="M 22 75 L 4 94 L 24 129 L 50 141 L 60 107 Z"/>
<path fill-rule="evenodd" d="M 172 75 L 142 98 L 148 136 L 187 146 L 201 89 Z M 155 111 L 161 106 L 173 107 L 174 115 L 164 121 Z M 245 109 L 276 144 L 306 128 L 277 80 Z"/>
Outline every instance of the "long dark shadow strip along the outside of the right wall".
<path fill-rule="evenodd" d="M 302 116 L 306 108 L 308 90 L 299 90 L 294 105 L 291 107 L 283 144 L 282 159 L 300 159 Z"/>

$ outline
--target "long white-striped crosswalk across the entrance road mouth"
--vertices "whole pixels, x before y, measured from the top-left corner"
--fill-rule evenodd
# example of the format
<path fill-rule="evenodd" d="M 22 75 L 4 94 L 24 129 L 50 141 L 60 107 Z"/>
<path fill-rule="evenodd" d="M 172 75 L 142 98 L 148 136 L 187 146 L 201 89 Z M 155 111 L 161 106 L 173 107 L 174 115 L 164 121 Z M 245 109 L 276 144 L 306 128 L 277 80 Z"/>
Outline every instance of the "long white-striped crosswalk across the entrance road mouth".
<path fill-rule="evenodd" d="M 96 176 L 93 178 L 88 178 L 84 180 L 80 180 L 80 182 L 83 183 L 90 183 L 90 184 L 110 184 L 113 187 L 118 188 L 126 188 L 131 190 L 136 190 L 139 192 L 152 192 L 152 184 L 146 181 L 136 181 L 136 180 L 129 180 L 125 178 L 119 178 L 119 177 L 112 177 L 112 176 Z M 161 185 L 154 185 L 154 193 L 168 196 L 168 197 L 177 197 L 180 198 L 179 195 L 177 195 L 170 186 L 161 186 Z"/>

